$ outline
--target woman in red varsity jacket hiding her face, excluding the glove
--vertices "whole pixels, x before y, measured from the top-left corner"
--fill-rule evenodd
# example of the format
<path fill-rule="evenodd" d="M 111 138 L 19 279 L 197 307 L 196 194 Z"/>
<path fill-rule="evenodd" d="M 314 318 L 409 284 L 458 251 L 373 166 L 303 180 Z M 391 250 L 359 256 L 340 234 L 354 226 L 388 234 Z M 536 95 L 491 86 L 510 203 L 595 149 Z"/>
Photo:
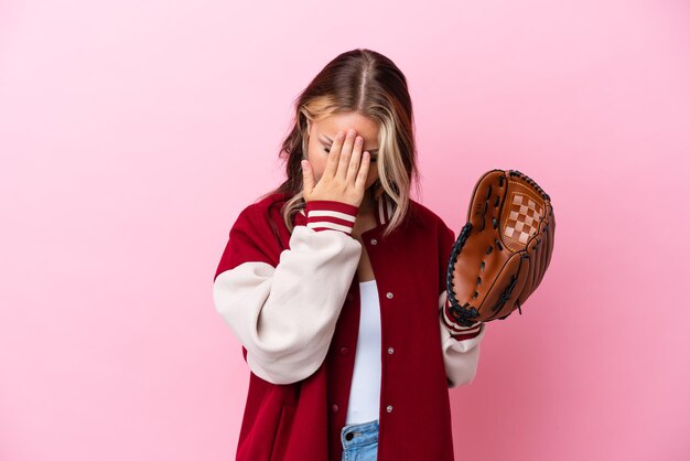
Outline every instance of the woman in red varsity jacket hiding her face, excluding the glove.
<path fill-rule="evenodd" d="M 453 459 L 448 389 L 474 379 L 486 325 L 443 315 L 455 237 L 410 197 L 412 124 L 374 51 L 300 95 L 287 180 L 240 212 L 214 277 L 250 369 L 237 460 Z"/>

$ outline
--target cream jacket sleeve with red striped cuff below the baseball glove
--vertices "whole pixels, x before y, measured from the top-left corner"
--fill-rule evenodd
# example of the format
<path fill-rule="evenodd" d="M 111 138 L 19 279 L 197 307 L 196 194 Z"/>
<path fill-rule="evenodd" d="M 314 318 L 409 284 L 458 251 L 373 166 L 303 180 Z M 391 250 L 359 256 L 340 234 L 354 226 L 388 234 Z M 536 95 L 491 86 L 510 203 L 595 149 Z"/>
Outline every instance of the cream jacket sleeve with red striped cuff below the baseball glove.
<path fill-rule="evenodd" d="M 448 292 L 439 294 L 439 323 L 441 328 L 441 349 L 448 376 L 448 387 L 468 385 L 474 379 L 479 361 L 479 343 L 486 333 L 486 323 L 477 322 L 472 326 L 457 328 L 455 331 L 443 321 Z"/>

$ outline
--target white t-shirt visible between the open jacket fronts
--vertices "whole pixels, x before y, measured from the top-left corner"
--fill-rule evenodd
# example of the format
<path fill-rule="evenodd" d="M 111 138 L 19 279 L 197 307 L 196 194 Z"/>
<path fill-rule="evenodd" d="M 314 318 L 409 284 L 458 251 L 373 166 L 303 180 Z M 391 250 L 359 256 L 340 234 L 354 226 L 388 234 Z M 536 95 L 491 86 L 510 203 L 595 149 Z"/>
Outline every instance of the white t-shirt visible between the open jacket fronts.
<path fill-rule="evenodd" d="M 346 425 L 378 419 L 381 393 L 381 313 L 376 280 L 359 282 L 360 314 Z"/>

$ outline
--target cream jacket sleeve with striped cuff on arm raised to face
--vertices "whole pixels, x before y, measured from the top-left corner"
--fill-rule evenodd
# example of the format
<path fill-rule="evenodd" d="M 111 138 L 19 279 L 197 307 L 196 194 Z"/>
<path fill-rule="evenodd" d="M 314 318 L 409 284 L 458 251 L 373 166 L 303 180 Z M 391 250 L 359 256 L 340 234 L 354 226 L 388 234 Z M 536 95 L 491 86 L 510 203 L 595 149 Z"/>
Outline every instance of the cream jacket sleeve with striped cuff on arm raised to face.
<path fill-rule="evenodd" d="M 266 219 L 245 208 L 230 230 L 213 286 L 217 312 L 247 350 L 260 378 L 289 384 L 323 363 L 357 269 L 362 246 L 351 236 L 357 207 L 306 203 L 289 249 L 271 260 Z"/>

